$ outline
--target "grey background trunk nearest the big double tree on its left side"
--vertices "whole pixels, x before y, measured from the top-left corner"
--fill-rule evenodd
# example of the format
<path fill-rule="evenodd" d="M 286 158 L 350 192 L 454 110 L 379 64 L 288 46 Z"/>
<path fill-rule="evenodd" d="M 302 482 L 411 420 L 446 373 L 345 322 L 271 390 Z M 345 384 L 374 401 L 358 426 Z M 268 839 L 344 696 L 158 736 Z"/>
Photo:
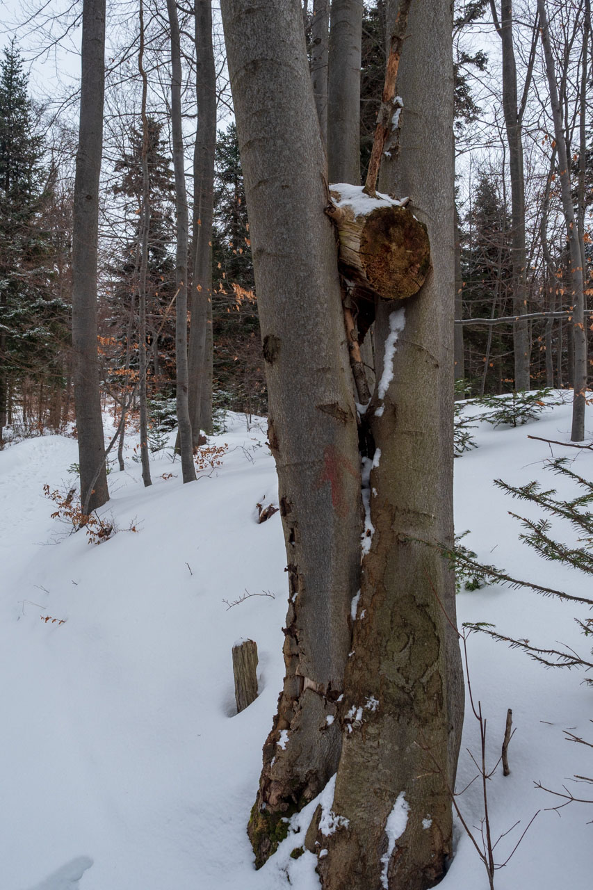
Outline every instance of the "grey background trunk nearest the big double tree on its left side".
<path fill-rule="evenodd" d="M 194 447 L 199 431 L 212 433 L 212 218 L 216 144 L 216 73 L 212 0 L 195 0 L 196 101 L 193 151 L 193 273 L 190 326 L 190 420 Z"/>

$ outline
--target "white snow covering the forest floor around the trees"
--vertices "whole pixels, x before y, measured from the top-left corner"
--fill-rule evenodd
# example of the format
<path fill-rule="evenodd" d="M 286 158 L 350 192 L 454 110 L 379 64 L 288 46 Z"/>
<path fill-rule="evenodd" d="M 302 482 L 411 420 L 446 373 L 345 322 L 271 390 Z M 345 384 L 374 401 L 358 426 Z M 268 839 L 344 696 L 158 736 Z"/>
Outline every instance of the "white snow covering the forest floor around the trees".
<path fill-rule="evenodd" d="M 508 510 L 540 513 L 491 483 L 540 478 L 568 491 L 542 470 L 549 446 L 526 437 L 566 440 L 569 431 L 569 405 L 516 430 L 482 426 L 479 448 L 455 462 L 456 527 L 471 530 L 464 543 L 484 562 L 590 595 L 586 579 L 518 544 Z M 264 424 L 248 429 L 233 416 L 212 440 L 228 444 L 223 465 L 186 486 L 167 452 L 155 456 L 144 489 L 135 442 L 126 471 L 109 476 L 101 512 L 119 531 L 101 546 L 83 532 L 69 535 L 43 496 L 45 482 L 72 481 L 76 441 L 45 436 L 0 452 L 0 890 L 276 890 L 288 886 L 287 873 L 296 890 L 313 890 L 313 856 L 289 854 L 302 845 L 315 802 L 258 872 L 245 831 L 283 675 L 287 598 L 280 515 L 256 522 L 256 503 L 278 497 Z M 593 478 L 590 452 L 553 449 Z M 246 590 L 274 598 L 251 596 L 230 609 L 223 602 Z M 458 608 L 459 622 L 492 621 L 538 645 L 589 648 L 573 622 L 578 610 L 566 603 L 487 587 L 460 594 Z M 239 637 L 257 642 L 260 695 L 236 715 L 231 650 Z M 488 783 L 494 836 L 521 820 L 497 846 L 499 862 L 542 810 L 497 873 L 498 890 L 589 890 L 593 807 L 543 812 L 556 802 L 533 782 L 560 789 L 574 773 L 591 774 L 590 749 L 567 742 L 563 730 L 593 740 L 593 691 L 581 676 L 545 671 L 483 636 L 471 635 L 467 648 L 494 760 L 507 708 L 516 726 L 512 773 Z M 468 716 L 460 787 L 475 774 L 466 748 L 478 756 L 478 739 Z M 479 827 L 478 782 L 459 806 Z M 488 887 L 459 825 L 441 886 Z"/>

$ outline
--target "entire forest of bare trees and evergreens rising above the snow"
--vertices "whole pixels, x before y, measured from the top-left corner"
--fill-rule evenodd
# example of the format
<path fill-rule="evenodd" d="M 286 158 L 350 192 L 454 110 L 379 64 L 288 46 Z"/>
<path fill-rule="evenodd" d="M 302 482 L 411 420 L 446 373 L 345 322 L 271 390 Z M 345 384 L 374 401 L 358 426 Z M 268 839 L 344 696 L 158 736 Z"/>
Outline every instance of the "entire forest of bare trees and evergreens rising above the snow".
<path fill-rule="evenodd" d="M 288 614 L 256 867 L 334 781 L 321 886 L 435 886 L 464 711 L 454 400 L 571 390 L 590 438 L 589 0 L 83 0 L 13 34 L 0 447 L 76 435 L 84 521 L 126 425 L 149 486 L 164 412 L 183 482 L 225 410 L 267 415 Z M 44 95 L 29 63 L 72 34 L 75 88 Z"/>

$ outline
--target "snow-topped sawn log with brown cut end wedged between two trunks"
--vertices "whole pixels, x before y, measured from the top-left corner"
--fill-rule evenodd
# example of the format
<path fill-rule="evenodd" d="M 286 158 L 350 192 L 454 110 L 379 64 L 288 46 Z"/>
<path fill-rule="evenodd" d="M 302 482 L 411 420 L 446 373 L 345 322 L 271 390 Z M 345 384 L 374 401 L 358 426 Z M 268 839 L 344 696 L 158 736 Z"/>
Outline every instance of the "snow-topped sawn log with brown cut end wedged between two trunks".
<path fill-rule="evenodd" d="M 424 223 L 387 195 L 370 198 L 361 186 L 329 186 L 337 225 L 339 262 L 345 279 L 385 300 L 418 293 L 430 268 Z"/>

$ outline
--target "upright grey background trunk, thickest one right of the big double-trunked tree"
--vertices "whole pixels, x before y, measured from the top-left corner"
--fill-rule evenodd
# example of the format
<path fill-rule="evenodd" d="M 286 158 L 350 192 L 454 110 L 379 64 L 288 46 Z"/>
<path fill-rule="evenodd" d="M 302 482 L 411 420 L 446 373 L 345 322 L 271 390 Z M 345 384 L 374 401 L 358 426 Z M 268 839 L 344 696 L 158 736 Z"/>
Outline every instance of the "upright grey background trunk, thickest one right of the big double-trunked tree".
<path fill-rule="evenodd" d="M 515 389 L 528 390 L 531 385 L 529 365 L 532 344 L 527 321 L 521 318 L 527 312 L 523 108 L 519 108 L 517 98 L 512 0 L 500 0 L 500 23 L 494 0 L 491 0 L 491 12 L 502 44 L 502 108 L 507 130 L 508 169 L 511 181 L 513 314 L 519 316 L 513 333 Z M 531 74 L 528 77 L 531 79 Z M 527 82 L 525 89 L 528 85 Z"/>

